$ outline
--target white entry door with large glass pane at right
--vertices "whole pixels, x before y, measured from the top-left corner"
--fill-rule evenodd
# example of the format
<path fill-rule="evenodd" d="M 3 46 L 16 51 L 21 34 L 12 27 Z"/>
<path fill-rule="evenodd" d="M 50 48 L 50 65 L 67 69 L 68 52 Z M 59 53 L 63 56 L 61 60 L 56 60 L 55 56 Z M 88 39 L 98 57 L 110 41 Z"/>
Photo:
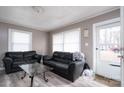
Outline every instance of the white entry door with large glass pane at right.
<path fill-rule="evenodd" d="M 121 80 L 120 20 L 102 22 L 96 27 L 96 74 Z"/>

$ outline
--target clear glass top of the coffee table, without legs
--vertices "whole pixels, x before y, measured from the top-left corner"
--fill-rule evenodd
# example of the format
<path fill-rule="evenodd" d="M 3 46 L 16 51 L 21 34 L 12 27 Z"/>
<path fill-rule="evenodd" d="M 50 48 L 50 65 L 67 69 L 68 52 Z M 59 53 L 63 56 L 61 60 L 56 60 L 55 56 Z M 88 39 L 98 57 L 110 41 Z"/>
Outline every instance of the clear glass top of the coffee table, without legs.
<path fill-rule="evenodd" d="M 30 76 L 33 76 L 37 73 L 47 72 L 52 70 L 51 67 L 45 66 L 41 63 L 33 63 L 33 64 L 23 64 L 19 65 L 20 68 L 22 68 L 27 74 Z"/>

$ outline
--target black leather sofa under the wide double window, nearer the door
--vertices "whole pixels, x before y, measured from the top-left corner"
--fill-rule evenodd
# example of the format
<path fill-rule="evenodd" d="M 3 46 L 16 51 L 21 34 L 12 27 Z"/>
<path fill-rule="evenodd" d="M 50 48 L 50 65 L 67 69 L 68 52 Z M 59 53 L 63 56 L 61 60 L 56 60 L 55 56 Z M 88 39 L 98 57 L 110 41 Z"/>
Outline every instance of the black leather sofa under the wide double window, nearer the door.
<path fill-rule="evenodd" d="M 56 51 L 52 57 L 44 56 L 43 64 L 53 67 L 53 72 L 72 82 L 81 76 L 83 70 L 87 68 L 83 57 L 74 56 L 74 53 L 69 52 Z"/>

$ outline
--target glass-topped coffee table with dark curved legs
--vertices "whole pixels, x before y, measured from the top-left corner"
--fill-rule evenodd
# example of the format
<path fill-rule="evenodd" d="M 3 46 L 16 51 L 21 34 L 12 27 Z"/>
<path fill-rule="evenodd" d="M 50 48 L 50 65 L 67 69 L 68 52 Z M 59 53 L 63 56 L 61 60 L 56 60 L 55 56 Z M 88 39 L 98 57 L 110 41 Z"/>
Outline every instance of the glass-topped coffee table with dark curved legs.
<path fill-rule="evenodd" d="M 48 82 L 48 79 L 46 78 L 46 72 L 53 70 L 53 68 L 45 66 L 41 63 L 23 64 L 19 65 L 19 67 L 25 72 L 21 79 L 24 79 L 26 74 L 28 74 L 29 78 L 31 78 L 31 87 L 33 86 L 34 76 L 43 74 L 44 81 Z"/>

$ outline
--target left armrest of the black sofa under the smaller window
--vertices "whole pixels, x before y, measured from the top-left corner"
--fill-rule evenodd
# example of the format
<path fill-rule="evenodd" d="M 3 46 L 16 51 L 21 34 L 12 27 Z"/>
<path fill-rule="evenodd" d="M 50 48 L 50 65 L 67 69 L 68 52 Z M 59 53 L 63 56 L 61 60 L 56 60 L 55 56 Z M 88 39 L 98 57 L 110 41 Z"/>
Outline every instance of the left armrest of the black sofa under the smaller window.
<path fill-rule="evenodd" d="M 6 73 L 11 72 L 13 59 L 10 58 L 10 57 L 4 57 L 3 58 L 3 63 L 4 63 Z"/>

